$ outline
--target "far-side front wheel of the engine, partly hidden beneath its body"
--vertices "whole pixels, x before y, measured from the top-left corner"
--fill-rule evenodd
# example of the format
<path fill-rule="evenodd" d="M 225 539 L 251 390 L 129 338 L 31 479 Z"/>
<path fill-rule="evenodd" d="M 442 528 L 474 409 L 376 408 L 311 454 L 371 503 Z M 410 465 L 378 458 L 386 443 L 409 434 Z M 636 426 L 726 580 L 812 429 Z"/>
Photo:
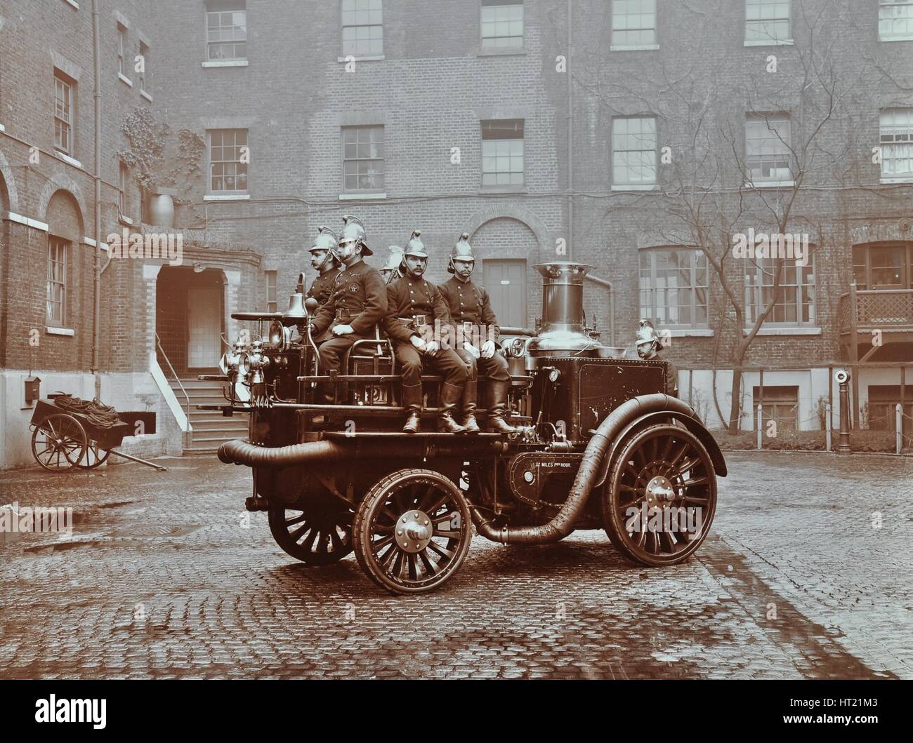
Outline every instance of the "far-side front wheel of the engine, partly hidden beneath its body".
<path fill-rule="evenodd" d="M 352 511 L 344 506 L 270 506 L 269 531 L 284 552 L 308 565 L 329 565 L 352 552 Z"/>

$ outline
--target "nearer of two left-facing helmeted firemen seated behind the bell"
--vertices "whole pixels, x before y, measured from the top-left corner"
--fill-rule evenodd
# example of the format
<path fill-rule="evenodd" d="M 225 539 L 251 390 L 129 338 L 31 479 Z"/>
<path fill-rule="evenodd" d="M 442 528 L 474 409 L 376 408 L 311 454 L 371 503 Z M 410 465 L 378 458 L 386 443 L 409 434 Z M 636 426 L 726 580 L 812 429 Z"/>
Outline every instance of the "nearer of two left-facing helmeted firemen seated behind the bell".
<path fill-rule="evenodd" d="M 340 262 L 330 296 L 314 315 L 313 332 L 320 342 L 320 372 L 339 371 L 341 357 L 356 340 L 373 337 L 374 325 L 383 323 L 387 294 L 380 272 L 362 260 L 373 255 L 362 222 L 342 217 L 339 243 L 331 251 Z M 328 401 L 332 395 L 324 388 Z"/>

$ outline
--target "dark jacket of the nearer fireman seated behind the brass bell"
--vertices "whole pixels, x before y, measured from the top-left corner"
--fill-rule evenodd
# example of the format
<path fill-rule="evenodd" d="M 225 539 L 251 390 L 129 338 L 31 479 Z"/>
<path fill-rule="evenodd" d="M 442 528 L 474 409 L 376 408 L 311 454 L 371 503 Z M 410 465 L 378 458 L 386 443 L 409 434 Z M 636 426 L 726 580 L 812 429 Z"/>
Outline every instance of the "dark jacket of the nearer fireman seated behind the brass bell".
<path fill-rule="evenodd" d="M 352 325 L 353 335 L 370 337 L 374 325 L 382 323 L 387 314 L 385 288 L 381 273 L 364 261 L 348 268 L 341 266 L 333 278 L 330 297 L 314 315 L 314 334 L 329 338 L 334 325 Z M 336 320 L 340 314 L 343 316 Z"/>

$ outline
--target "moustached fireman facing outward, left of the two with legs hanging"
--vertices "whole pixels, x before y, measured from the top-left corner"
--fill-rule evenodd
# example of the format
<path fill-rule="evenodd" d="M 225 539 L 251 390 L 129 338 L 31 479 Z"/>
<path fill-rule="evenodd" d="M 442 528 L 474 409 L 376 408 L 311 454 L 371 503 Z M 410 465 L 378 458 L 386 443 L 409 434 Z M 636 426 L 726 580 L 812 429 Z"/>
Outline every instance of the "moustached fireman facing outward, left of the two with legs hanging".
<path fill-rule="evenodd" d="M 437 337 L 450 325 L 447 306 L 435 284 L 422 275 L 428 253 L 415 230 L 403 256 L 404 275 L 387 284 L 386 331 L 394 343 L 396 361 L 402 366 L 405 433 L 415 433 L 422 412 L 422 369 L 441 374 L 444 381 L 437 401 L 437 428 L 446 433 L 465 433 L 453 414 L 468 377 L 466 365 L 449 348 L 441 348 Z M 437 330 L 437 333 L 435 332 Z"/>

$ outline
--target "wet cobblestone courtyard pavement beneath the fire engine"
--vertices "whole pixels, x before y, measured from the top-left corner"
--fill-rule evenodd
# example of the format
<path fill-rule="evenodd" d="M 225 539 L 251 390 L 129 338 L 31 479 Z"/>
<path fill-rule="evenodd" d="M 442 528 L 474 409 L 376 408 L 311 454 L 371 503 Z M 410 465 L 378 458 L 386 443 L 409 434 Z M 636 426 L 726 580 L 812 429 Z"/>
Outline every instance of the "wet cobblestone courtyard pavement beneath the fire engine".
<path fill-rule="evenodd" d="M 72 506 L 75 527 L 0 541 L 0 676 L 913 678 L 913 459 L 727 459 L 690 562 L 636 567 L 602 531 L 477 537 L 424 596 L 353 555 L 295 562 L 266 514 L 242 528 L 247 468 L 2 472 L 0 504 Z"/>

